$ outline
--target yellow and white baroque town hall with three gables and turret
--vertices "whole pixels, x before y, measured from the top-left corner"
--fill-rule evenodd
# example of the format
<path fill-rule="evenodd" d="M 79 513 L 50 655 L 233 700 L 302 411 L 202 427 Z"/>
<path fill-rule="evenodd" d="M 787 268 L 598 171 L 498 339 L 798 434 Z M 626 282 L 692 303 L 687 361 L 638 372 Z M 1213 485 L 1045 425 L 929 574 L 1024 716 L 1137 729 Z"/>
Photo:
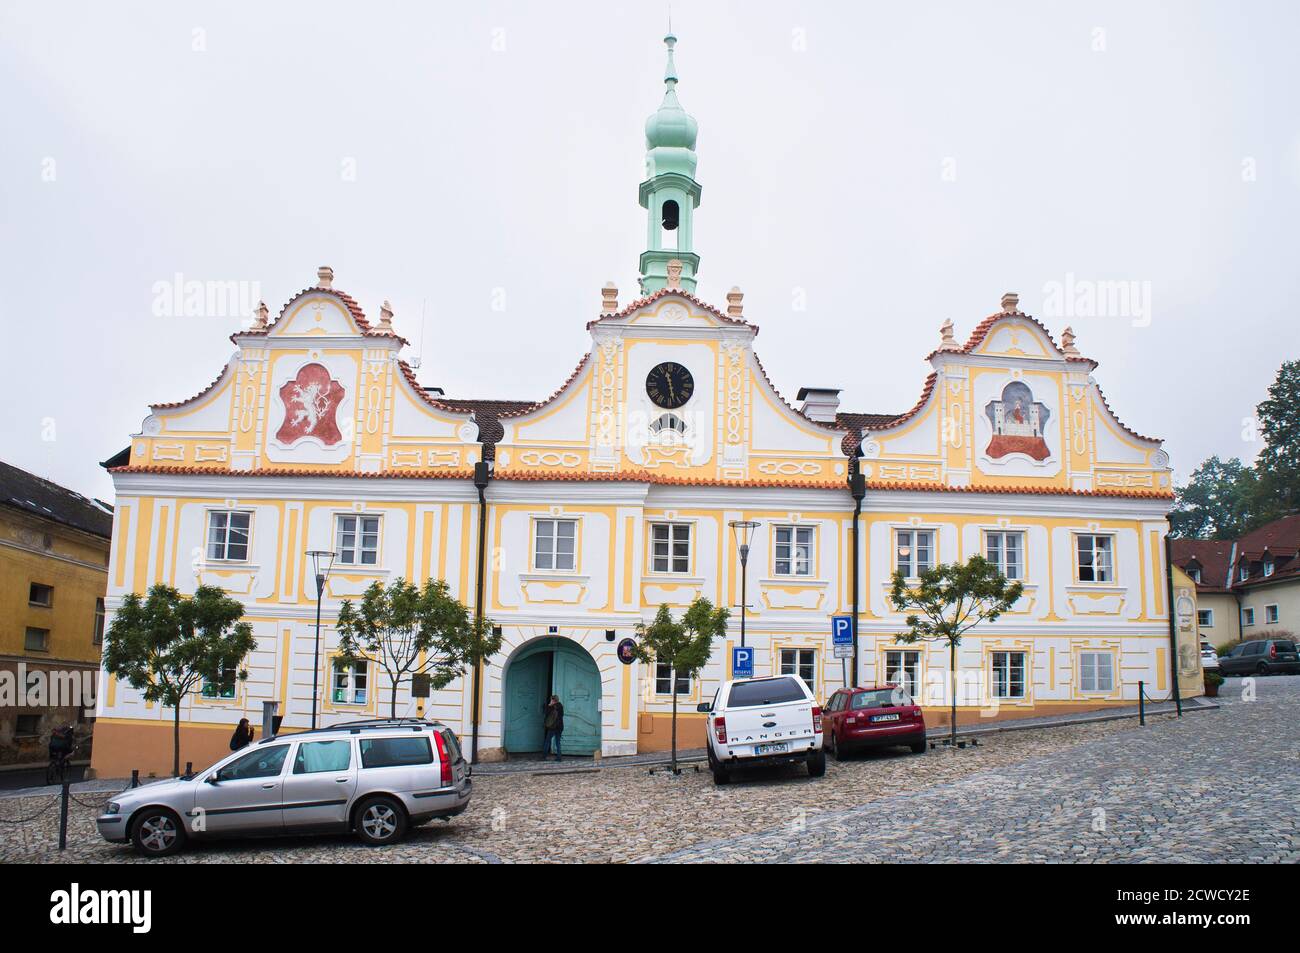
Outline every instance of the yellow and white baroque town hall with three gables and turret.
<path fill-rule="evenodd" d="M 640 186 L 641 296 L 620 306 L 604 289 L 590 351 L 552 397 L 421 387 L 387 304 L 367 317 L 321 268 L 274 320 L 263 307 L 233 335 L 238 351 L 213 384 L 152 406 L 108 462 L 109 612 L 155 582 L 220 585 L 257 638 L 247 680 L 185 702 L 187 759 L 222 754 L 265 701 L 280 703 L 283 729 L 307 727 L 317 667 L 322 723 L 386 715 L 382 672 L 335 662 L 342 599 L 432 577 L 473 607 L 480 566 L 504 641 L 480 673 L 477 718 L 469 673 L 430 697 L 403 688 L 399 714 L 441 719 L 467 741 L 477 723 L 493 757 L 541 748 L 542 698 L 555 692 L 566 753 L 662 749 L 673 679 L 629 663 L 619 644 L 662 603 L 740 606 L 729 524 L 741 520 L 758 523 L 745 575 L 755 675 L 793 672 L 828 698 L 850 664 L 832 650 L 831 616 L 855 606 L 858 683 L 902 681 L 944 723 L 946 647 L 893 641 L 904 619 L 890 575 L 985 554 L 1024 594 L 963 641 L 961 720 L 1132 703 L 1139 680 L 1169 693 L 1160 442 L 1112 412 L 1070 330 L 1058 345 L 1015 295 L 965 342 L 944 326 L 906 413 L 840 412 L 831 390 L 792 406 L 763 372 L 741 294 L 724 308 L 694 294 L 697 126 L 666 42 Z M 308 550 L 337 554 L 318 658 Z M 733 608 L 702 677 L 677 686 L 684 744 L 701 744 L 694 703 L 729 676 L 738 640 Z M 98 714 L 101 775 L 166 770 L 170 710 L 104 676 Z"/>

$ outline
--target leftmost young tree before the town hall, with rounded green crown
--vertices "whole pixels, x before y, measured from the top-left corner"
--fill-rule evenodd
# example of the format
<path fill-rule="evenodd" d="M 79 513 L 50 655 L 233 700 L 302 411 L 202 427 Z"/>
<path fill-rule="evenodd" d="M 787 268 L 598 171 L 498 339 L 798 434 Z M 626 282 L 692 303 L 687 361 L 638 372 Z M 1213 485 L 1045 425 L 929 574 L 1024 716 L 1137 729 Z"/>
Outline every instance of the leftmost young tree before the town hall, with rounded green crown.
<path fill-rule="evenodd" d="M 208 683 L 217 692 L 234 688 L 248 672 L 240 666 L 257 646 L 243 606 L 220 586 L 199 586 L 182 595 L 162 584 L 144 598 L 131 593 L 104 636 L 104 670 L 174 711 L 172 774 L 181 775 L 181 702 Z"/>

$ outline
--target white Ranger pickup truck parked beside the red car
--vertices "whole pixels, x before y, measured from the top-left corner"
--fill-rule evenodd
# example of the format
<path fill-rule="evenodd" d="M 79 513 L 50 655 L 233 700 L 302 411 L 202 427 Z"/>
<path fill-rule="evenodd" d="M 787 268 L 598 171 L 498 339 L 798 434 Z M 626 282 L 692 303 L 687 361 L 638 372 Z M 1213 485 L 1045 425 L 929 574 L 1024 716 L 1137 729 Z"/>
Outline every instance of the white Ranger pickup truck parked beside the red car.
<path fill-rule="evenodd" d="M 826 774 L 822 709 L 793 675 L 724 681 L 708 715 L 708 767 L 715 784 L 727 784 L 734 768 L 805 762 L 809 775 Z"/>

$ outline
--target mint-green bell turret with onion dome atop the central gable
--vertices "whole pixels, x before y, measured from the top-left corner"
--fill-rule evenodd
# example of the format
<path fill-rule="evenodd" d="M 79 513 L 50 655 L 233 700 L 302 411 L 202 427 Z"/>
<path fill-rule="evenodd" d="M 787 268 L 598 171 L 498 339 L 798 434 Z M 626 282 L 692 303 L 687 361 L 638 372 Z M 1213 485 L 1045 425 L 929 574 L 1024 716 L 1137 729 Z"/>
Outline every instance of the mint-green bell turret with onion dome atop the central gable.
<path fill-rule="evenodd" d="M 696 135 L 699 126 L 677 101 L 677 68 L 672 48 L 677 38 L 663 38 L 668 66 L 663 74 L 663 103 L 646 120 L 646 181 L 641 207 L 649 213 L 646 250 L 641 252 L 641 294 L 680 282 L 694 293 L 699 256 L 692 247 L 692 218 L 699 205 L 696 182 Z M 670 267 L 670 263 L 671 267 Z"/>

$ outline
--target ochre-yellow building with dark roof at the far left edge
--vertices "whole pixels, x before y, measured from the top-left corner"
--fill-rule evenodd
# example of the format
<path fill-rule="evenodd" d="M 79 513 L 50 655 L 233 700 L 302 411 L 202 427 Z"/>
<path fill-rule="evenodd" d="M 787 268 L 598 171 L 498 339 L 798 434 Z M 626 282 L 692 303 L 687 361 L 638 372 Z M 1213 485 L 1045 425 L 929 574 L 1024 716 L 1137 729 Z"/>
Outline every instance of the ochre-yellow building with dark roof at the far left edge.
<path fill-rule="evenodd" d="M 0 763 L 94 707 L 112 511 L 0 463 Z"/>

